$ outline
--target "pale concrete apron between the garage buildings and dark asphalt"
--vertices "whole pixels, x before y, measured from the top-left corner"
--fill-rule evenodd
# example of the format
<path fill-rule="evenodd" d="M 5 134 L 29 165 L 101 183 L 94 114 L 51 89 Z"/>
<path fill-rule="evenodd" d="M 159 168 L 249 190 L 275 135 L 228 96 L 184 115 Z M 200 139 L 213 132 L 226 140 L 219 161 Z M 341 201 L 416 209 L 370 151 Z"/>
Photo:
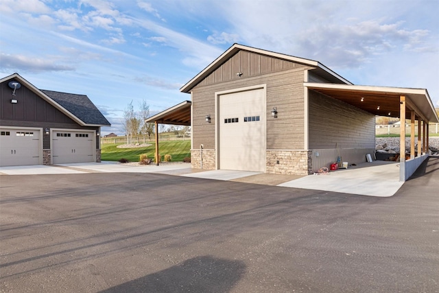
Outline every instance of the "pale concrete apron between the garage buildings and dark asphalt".
<path fill-rule="evenodd" d="M 133 166 L 117 162 L 71 163 L 0 167 L 2 175 L 84 174 L 84 173 L 159 173 L 213 180 L 233 180 L 244 183 L 276 185 L 300 189 L 317 189 L 364 196 L 393 196 L 403 185 L 399 182 L 399 164 L 383 161 L 363 163 L 349 169 L 339 169 L 326 175 L 274 175 L 233 170 L 203 171 L 189 164 Z M 5 178 L 0 178 L 4 182 Z"/>

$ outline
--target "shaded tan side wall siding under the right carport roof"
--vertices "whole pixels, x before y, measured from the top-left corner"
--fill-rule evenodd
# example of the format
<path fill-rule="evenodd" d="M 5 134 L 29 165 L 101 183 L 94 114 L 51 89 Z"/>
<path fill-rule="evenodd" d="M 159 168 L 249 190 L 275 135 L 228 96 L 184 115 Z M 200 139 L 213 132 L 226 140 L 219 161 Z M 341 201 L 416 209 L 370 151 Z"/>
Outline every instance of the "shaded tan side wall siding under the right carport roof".
<path fill-rule="evenodd" d="M 309 90 L 309 149 L 375 148 L 375 116 Z"/>

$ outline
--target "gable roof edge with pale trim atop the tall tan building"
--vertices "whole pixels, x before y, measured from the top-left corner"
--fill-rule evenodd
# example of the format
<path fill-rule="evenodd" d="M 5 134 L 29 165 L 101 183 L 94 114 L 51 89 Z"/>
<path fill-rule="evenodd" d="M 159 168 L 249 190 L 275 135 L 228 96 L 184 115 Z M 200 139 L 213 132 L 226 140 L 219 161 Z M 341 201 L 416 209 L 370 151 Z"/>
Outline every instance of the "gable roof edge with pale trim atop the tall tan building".
<path fill-rule="evenodd" d="M 192 78 L 191 80 L 189 80 L 189 82 L 187 82 L 187 84 L 182 86 L 180 91 L 182 93 L 190 93 L 190 91 L 191 91 L 191 89 L 193 89 L 193 87 L 195 87 L 198 83 L 200 83 L 202 80 L 204 80 L 204 78 L 206 78 L 208 75 L 213 73 L 213 71 L 215 71 L 218 67 L 220 67 L 222 64 L 224 64 L 224 62 L 226 62 L 230 57 L 237 54 L 237 52 L 240 50 L 250 51 L 250 52 L 255 53 L 255 54 L 261 54 L 261 55 L 272 57 L 272 58 L 278 58 L 278 59 L 282 59 L 282 60 L 296 62 L 296 63 L 300 63 L 302 65 L 309 65 L 309 66 L 315 68 L 313 70 L 317 71 L 316 73 L 318 73 L 319 75 L 322 75 L 324 78 L 327 78 L 327 80 L 329 80 L 330 82 L 339 83 L 339 84 L 340 83 L 352 84 L 351 82 L 342 78 L 342 76 L 338 75 L 337 73 L 335 73 L 334 71 L 332 71 L 328 67 L 322 65 L 322 63 L 320 63 L 318 61 L 305 59 L 305 58 L 299 58 L 299 57 L 290 56 L 290 55 L 286 55 L 286 54 L 280 54 L 280 53 L 276 53 L 273 51 L 257 49 L 254 47 L 248 47 L 245 45 L 239 45 L 239 44 L 235 43 L 232 45 L 232 47 L 228 48 L 221 56 L 216 58 L 208 67 L 203 69 L 200 73 L 198 73 L 198 75 L 195 75 L 195 77 Z"/>

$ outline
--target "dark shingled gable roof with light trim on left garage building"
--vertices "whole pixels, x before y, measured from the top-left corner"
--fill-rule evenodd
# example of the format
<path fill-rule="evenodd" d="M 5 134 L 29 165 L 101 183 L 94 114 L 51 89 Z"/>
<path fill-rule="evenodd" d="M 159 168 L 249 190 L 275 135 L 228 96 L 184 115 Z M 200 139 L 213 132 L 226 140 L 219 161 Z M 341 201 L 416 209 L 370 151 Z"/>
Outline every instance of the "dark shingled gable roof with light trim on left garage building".
<path fill-rule="evenodd" d="M 12 78 L 21 82 L 22 84 L 25 84 L 29 90 L 33 91 L 36 93 L 36 95 L 40 96 L 46 102 L 60 110 L 62 113 L 67 115 L 67 117 L 73 119 L 73 121 L 80 124 L 80 126 L 111 125 L 86 95 L 40 90 L 21 77 L 19 73 L 14 73 L 2 78 L 0 82 L 5 82 L 6 80 L 11 80 Z"/>

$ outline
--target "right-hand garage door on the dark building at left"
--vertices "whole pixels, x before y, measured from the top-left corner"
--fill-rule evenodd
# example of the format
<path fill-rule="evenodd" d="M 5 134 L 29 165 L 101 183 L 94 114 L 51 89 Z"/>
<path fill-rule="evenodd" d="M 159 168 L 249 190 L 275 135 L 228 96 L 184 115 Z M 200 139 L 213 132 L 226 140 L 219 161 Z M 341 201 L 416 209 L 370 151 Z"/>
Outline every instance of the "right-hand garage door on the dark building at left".
<path fill-rule="evenodd" d="M 93 162 L 93 132 L 54 130 L 52 152 L 54 164 Z"/>

